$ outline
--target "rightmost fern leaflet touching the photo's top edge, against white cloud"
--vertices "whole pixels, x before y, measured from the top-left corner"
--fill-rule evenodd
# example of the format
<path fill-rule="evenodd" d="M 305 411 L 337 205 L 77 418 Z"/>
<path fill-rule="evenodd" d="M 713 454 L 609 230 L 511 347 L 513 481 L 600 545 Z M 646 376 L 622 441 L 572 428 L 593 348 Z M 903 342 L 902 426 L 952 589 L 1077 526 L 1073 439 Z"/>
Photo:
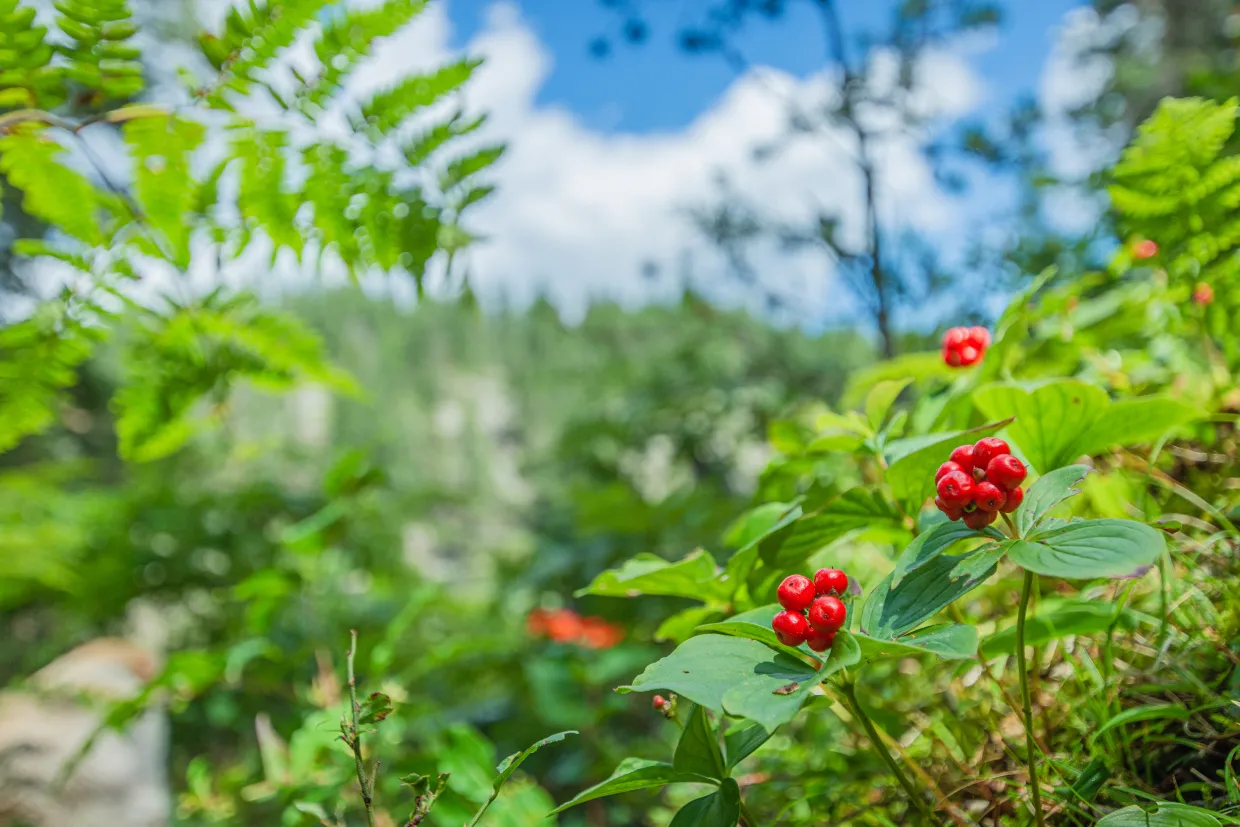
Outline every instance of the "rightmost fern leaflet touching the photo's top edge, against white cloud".
<path fill-rule="evenodd" d="M 324 107 L 371 53 L 376 40 L 396 33 L 425 7 L 427 0 L 387 0 L 383 5 L 357 11 L 348 11 L 343 5 L 330 9 L 331 16 L 314 45 L 321 74 L 299 93 L 301 100 Z"/>

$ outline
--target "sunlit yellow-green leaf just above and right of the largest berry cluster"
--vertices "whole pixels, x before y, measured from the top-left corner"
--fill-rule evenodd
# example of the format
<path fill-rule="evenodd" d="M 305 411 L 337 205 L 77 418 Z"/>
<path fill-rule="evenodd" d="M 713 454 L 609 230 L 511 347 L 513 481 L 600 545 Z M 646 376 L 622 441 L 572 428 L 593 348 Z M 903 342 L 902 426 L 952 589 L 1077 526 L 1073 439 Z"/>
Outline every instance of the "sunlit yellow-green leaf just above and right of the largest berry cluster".
<path fill-rule="evenodd" d="M 1030 386 L 1012 383 L 982 386 L 973 391 L 973 404 L 988 418 L 1014 417 L 1007 433 L 1025 459 L 1040 474 L 1066 465 L 1080 434 L 1102 415 L 1110 400 L 1106 392 L 1079 379 L 1055 379 Z"/>

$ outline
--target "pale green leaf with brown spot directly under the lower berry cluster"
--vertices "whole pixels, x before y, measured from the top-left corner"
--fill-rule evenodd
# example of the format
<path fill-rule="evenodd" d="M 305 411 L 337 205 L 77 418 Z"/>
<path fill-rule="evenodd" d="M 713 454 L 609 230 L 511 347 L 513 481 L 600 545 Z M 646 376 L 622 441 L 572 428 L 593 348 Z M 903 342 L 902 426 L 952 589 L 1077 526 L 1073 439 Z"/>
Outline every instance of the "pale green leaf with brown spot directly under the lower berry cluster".
<path fill-rule="evenodd" d="M 853 636 L 841 629 L 832 647 L 816 655 L 822 658 L 822 667 L 817 672 L 811 671 L 807 678 L 797 677 L 794 670 L 787 668 L 785 661 L 792 661 L 787 655 L 769 651 L 769 657 L 771 660 L 758 665 L 748 678 L 723 694 L 723 709 L 729 715 L 755 720 L 766 732 L 774 733 L 796 717 L 813 687 L 839 670 L 858 663 L 861 648 Z M 796 666 L 804 665 L 797 661 Z"/>

